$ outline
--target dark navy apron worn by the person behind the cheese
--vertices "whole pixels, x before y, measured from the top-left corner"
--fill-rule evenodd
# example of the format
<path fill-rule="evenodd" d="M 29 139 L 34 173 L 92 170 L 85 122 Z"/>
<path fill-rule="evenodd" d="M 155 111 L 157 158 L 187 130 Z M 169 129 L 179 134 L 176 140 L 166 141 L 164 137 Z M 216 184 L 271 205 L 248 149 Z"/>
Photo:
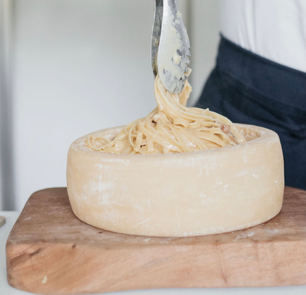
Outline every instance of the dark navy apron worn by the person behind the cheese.
<path fill-rule="evenodd" d="M 285 185 L 306 190 L 306 73 L 221 36 L 216 67 L 196 106 L 274 130 L 282 144 Z"/>

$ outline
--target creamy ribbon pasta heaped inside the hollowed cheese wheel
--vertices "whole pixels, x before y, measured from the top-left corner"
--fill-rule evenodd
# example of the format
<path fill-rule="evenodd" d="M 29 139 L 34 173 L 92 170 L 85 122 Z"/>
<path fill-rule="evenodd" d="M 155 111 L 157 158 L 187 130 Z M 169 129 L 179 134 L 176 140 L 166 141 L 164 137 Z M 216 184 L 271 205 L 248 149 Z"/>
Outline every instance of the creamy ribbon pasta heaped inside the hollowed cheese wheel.
<path fill-rule="evenodd" d="M 109 140 L 91 135 L 87 146 L 118 154 L 180 153 L 238 145 L 245 142 L 233 123 L 209 109 L 188 108 L 188 81 L 179 94 L 168 92 L 159 75 L 155 79 L 157 108 L 123 127 Z"/>

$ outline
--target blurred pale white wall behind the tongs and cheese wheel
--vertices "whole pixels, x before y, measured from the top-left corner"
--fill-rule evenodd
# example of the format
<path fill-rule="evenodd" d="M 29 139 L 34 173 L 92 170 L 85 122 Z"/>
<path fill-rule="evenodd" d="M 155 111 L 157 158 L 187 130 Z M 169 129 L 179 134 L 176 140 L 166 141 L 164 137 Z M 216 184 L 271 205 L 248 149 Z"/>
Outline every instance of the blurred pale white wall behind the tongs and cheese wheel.
<path fill-rule="evenodd" d="M 177 3 L 191 39 L 193 104 L 214 65 L 218 3 Z M 155 108 L 153 5 L 154 0 L 0 0 L 0 7 L 10 7 L 0 10 L 1 47 L 9 46 L 0 51 L 0 115 L 9 118 L 0 121 L 0 160 L 6 163 L 0 209 L 21 210 L 34 191 L 65 186 L 67 150 L 75 139 Z M 5 22 L 1 16 L 7 14 Z"/>

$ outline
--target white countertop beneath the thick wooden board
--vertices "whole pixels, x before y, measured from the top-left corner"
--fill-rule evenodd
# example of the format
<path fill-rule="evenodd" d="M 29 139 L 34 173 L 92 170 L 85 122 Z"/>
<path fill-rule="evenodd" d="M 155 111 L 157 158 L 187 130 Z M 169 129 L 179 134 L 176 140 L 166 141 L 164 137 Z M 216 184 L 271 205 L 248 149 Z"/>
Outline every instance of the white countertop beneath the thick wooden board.
<path fill-rule="evenodd" d="M 6 223 L 0 228 L 0 291 L 3 295 L 23 295 L 31 294 L 29 292 L 20 291 L 11 287 L 7 282 L 6 274 L 6 256 L 5 256 L 5 244 L 7 237 L 18 218 L 19 213 L 15 211 L 0 211 L 0 216 L 6 218 Z M 306 271 L 306 270 L 305 270 Z M 304 286 L 286 286 L 286 287 L 262 287 L 262 288 L 186 288 L 186 289 L 152 289 L 152 290 L 135 290 L 135 291 L 122 291 L 112 293 L 100 293 L 104 295 L 230 295 L 230 294 L 258 294 L 261 295 L 277 294 L 306 294 L 306 285 Z"/>

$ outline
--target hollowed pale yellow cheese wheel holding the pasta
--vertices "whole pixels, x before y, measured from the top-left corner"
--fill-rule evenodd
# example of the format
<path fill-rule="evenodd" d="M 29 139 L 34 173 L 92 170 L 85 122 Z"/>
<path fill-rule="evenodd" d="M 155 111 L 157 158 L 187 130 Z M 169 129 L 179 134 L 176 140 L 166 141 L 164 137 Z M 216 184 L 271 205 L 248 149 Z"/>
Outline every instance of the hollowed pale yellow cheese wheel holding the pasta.
<path fill-rule="evenodd" d="M 248 228 L 281 210 L 284 161 L 275 132 L 236 124 L 247 139 L 199 152 L 118 155 L 93 151 L 86 138 L 68 151 L 74 214 L 108 231 L 195 236 Z M 120 128 L 94 133 L 115 136 Z"/>

